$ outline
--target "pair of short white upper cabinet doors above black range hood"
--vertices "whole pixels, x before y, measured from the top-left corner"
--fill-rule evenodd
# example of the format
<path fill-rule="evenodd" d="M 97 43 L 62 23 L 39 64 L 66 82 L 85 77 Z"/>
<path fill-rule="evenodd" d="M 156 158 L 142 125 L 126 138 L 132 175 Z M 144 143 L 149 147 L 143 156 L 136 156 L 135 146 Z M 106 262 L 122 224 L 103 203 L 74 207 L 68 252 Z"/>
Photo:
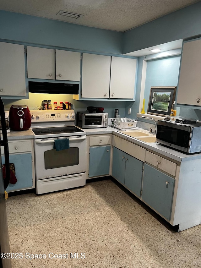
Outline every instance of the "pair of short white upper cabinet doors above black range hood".
<path fill-rule="evenodd" d="M 28 78 L 80 80 L 80 53 L 27 46 Z"/>

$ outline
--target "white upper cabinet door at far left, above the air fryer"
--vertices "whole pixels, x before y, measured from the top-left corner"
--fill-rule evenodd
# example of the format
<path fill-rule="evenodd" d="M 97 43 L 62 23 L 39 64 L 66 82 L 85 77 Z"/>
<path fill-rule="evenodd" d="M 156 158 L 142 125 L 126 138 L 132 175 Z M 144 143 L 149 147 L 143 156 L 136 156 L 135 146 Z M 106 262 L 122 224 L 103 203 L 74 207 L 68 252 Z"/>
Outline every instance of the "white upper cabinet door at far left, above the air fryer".
<path fill-rule="evenodd" d="M 0 95 L 26 96 L 24 46 L 0 42 Z"/>

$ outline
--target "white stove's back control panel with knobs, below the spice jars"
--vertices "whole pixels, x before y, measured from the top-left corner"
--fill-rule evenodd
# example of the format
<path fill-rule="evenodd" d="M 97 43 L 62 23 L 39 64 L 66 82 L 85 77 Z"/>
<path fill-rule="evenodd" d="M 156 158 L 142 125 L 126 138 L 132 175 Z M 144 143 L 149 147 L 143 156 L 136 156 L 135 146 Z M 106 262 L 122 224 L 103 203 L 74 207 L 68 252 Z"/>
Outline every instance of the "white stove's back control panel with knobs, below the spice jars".
<path fill-rule="evenodd" d="M 31 123 L 75 121 L 74 110 L 31 110 Z"/>

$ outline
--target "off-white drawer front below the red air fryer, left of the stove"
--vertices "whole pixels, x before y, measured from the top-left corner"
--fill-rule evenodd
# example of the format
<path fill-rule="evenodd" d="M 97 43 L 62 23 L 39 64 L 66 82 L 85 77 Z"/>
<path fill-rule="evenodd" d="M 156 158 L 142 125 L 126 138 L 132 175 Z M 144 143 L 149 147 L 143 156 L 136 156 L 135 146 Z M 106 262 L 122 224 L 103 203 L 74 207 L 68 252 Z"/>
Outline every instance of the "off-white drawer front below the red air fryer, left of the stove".
<path fill-rule="evenodd" d="M 9 153 L 22 153 L 22 152 L 31 152 L 32 142 L 30 140 L 27 141 L 9 141 L 8 142 L 8 150 Z M 4 154 L 4 147 L 1 147 L 1 152 Z"/>

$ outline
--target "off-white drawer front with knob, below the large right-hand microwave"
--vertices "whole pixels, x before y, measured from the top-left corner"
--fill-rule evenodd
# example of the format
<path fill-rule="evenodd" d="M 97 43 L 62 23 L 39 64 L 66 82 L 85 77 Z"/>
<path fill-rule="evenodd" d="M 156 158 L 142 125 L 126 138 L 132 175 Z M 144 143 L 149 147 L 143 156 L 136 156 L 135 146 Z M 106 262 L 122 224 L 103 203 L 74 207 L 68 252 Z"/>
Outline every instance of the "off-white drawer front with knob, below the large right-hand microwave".
<path fill-rule="evenodd" d="M 154 167 L 157 167 L 169 174 L 171 174 L 172 176 L 175 176 L 176 174 L 176 169 L 177 169 L 177 164 L 173 163 L 161 156 L 157 156 L 153 153 L 150 152 L 146 152 L 146 157 L 145 157 L 145 161 L 149 164 L 151 164 Z"/>

